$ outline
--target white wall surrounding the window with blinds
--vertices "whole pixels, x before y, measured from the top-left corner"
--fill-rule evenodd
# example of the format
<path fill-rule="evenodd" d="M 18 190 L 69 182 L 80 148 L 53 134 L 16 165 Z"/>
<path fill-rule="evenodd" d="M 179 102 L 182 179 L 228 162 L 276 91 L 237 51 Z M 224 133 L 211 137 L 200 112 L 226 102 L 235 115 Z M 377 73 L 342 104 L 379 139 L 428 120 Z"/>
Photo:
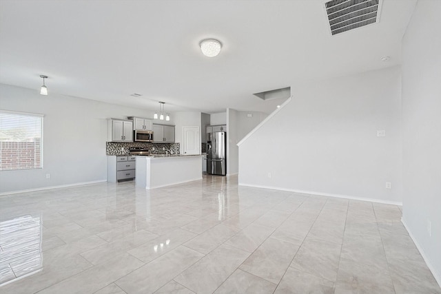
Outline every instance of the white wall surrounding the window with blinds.
<path fill-rule="evenodd" d="M 43 169 L 0 171 L 0 193 L 107 180 L 106 118 L 152 118 L 154 114 L 154 111 L 54 93 L 41 96 L 37 88 L 29 90 L 3 84 L 0 84 L 0 109 L 45 114 Z M 46 179 L 45 174 L 51 174 L 51 178 Z"/>

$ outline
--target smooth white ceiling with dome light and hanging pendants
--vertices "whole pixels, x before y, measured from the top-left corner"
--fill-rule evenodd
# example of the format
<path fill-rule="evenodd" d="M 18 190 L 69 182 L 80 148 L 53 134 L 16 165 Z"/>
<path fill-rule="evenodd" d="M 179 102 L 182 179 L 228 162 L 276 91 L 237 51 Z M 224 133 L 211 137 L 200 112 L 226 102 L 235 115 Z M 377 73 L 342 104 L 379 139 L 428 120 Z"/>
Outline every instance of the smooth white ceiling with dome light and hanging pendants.
<path fill-rule="evenodd" d="M 400 64 L 416 0 L 384 0 L 380 23 L 336 36 L 323 3 L 1 0 L 0 83 L 39 90 L 45 74 L 50 93 L 132 107 L 271 112 L 281 101 L 252 94 Z"/>

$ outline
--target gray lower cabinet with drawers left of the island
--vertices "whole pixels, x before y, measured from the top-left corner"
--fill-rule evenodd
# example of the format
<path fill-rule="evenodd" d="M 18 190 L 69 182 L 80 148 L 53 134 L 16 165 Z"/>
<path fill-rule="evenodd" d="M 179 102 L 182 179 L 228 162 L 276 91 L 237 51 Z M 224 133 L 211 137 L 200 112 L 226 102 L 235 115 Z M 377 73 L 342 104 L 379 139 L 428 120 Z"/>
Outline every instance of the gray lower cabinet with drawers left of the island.
<path fill-rule="evenodd" d="M 134 156 L 107 156 L 107 182 L 121 182 L 134 178 Z"/>

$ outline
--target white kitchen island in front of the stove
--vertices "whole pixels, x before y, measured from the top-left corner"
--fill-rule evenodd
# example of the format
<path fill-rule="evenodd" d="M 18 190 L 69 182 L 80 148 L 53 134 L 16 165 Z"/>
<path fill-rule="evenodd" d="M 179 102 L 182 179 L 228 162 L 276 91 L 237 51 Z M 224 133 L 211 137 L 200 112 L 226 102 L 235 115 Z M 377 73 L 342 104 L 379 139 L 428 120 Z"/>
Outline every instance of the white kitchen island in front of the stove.
<path fill-rule="evenodd" d="M 136 187 L 150 190 L 201 179 L 201 155 L 136 156 Z"/>

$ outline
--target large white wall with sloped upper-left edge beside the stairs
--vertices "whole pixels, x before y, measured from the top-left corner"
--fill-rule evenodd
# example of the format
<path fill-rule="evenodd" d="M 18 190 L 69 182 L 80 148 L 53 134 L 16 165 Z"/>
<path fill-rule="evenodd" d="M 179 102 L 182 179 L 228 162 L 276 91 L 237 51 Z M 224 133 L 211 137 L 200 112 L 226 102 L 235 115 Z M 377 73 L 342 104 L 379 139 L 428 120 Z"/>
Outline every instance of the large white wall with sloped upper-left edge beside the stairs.
<path fill-rule="evenodd" d="M 400 81 L 391 67 L 291 85 L 291 103 L 240 145 L 240 185 L 402 202 Z"/>

